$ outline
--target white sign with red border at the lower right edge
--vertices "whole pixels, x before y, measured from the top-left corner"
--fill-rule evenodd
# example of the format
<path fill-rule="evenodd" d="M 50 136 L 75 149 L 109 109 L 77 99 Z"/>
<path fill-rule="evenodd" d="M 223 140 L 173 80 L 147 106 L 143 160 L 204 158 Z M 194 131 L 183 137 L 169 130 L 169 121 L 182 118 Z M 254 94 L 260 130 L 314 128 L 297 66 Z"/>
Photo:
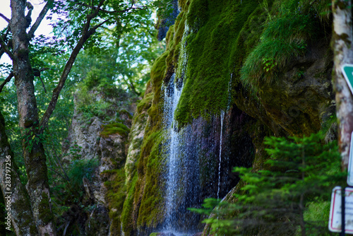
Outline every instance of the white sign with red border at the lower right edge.
<path fill-rule="evenodd" d="M 342 195 L 341 187 L 335 187 L 331 196 L 330 220 L 328 230 L 331 232 L 342 231 Z M 353 233 L 353 188 L 345 190 L 345 232 Z"/>

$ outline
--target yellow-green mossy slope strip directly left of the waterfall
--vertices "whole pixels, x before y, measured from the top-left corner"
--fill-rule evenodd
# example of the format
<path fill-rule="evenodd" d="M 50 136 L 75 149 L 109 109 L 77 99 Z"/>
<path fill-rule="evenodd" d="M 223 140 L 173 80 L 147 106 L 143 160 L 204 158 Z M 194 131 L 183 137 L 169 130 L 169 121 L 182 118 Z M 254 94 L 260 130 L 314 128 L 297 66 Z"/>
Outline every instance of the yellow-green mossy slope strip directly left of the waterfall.
<path fill-rule="evenodd" d="M 170 31 L 169 31 L 170 32 Z M 140 151 L 140 157 L 133 170 L 133 178 L 128 182 L 126 200 L 122 212 L 122 225 L 125 235 L 133 235 L 137 227 L 156 225 L 162 212 L 162 191 L 160 184 L 160 129 L 162 128 L 161 86 L 166 69 L 166 59 L 169 51 L 162 54 L 151 71 L 151 90 L 146 93 L 137 107 L 133 122 L 139 122 L 142 116 L 148 114 L 148 124 Z M 151 164 L 152 163 L 152 164 Z M 131 170 L 130 170 L 131 171 Z M 157 187 L 158 186 L 158 187 Z M 152 209 L 151 206 L 155 208 Z M 157 216 L 159 214 L 159 216 Z"/>

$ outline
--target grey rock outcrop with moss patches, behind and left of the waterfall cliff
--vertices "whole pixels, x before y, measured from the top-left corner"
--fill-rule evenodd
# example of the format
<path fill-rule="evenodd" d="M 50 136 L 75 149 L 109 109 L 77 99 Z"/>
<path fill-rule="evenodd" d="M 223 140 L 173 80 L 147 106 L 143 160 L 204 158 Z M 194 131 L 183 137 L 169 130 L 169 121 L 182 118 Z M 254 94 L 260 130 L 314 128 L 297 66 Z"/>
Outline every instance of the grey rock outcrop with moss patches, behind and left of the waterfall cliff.
<path fill-rule="evenodd" d="M 133 105 L 134 99 L 124 91 L 110 89 L 118 94 L 115 94 L 115 98 L 109 98 L 104 90 L 89 92 L 91 97 L 96 98 L 92 103 L 109 102 L 104 117 L 94 114 L 87 117 L 88 114 L 83 112 L 85 104 L 82 102 L 82 95 L 76 93 L 75 111 L 66 145 L 63 147 L 63 152 L 66 153 L 64 163 L 67 166 L 73 162 L 97 162 L 93 166 L 95 169 L 92 176 L 78 179 L 83 196 L 80 197 L 80 203 L 71 206 L 68 214 L 74 212 L 70 218 L 71 225 L 79 225 L 80 235 L 120 235 L 122 202 L 119 203 L 119 200 L 124 201 L 126 195 L 124 165 L 128 128 L 132 122 L 131 114 L 136 108 Z M 124 100 L 119 100 L 121 97 Z M 126 132 L 116 129 L 123 126 L 126 127 Z"/>

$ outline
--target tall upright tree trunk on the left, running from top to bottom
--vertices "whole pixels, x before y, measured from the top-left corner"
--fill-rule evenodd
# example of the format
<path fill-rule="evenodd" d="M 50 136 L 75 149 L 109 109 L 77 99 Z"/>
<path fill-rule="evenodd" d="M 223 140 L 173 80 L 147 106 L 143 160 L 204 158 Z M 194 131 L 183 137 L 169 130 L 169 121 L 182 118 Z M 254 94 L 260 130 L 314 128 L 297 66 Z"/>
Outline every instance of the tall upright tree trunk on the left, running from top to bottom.
<path fill-rule="evenodd" d="M 22 128 L 23 157 L 28 175 L 28 194 L 34 221 L 40 235 L 56 235 L 49 196 L 46 157 L 36 136 L 39 129 L 33 72 L 29 61 L 29 38 L 26 33 L 26 1 L 11 0 L 11 33 L 13 35 L 13 73 L 17 88 L 19 126 Z M 33 132 L 31 135 L 30 132 Z"/>

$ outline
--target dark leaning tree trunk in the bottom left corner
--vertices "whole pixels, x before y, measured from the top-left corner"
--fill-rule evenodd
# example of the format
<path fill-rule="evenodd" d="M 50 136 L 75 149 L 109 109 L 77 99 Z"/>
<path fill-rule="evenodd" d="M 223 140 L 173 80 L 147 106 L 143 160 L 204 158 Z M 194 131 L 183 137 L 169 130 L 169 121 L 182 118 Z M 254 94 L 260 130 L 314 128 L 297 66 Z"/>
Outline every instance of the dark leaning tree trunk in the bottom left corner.
<path fill-rule="evenodd" d="M 6 188 L 6 156 L 11 157 L 11 187 Z M 11 223 L 15 229 L 16 235 L 38 235 L 35 222 L 32 220 L 32 210 L 30 208 L 30 200 L 25 187 L 20 182 L 17 173 L 17 166 L 13 160 L 13 152 L 11 151 L 8 138 L 5 133 L 5 121 L 0 112 L 0 184 L 1 197 L 11 195 Z M 12 194 L 8 194 L 11 192 Z M 5 205 L 6 206 L 6 205 Z M 7 226 L 7 225 L 6 225 Z"/>

